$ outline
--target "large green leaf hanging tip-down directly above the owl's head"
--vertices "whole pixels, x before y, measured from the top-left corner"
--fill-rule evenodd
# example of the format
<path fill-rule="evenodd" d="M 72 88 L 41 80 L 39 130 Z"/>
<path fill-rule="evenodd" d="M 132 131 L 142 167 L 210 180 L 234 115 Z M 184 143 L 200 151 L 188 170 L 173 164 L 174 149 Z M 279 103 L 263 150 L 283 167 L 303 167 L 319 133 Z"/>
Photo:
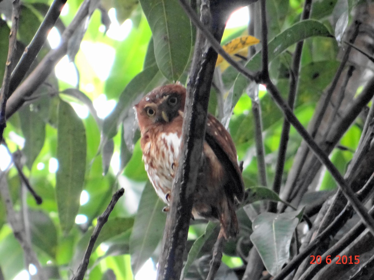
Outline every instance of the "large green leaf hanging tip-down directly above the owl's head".
<path fill-rule="evenodd" d="M 154 55 L 162 74 L 177 81 L 191 52 L 191 23 L 177 0 L 140 0 L 152 30 Z"/>

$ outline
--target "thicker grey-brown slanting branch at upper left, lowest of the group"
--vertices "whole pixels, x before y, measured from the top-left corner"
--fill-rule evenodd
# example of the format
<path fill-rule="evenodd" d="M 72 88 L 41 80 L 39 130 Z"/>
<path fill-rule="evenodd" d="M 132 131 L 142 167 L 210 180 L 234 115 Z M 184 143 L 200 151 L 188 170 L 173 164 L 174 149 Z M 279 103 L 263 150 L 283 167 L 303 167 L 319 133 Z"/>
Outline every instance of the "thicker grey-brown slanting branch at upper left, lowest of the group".
<path fill-rule="evenodd" d="M 6 117 L 9 118 L 15 113 L 25 102 L 26 98 L 30 96 L 36 88 L 38 88 L 44 80 L 48 77 L 57 62 L 66 54 L 68 48 L 68 41 L 73 35 L 74 31 L 79 27 L 83 19 L 89 13 L 89 10 L 94 10 L 95 5 L 99 1 L 85 0 L 79 7 L 74 19 L 70 25 L 65 29 L 61 35 L 60 45 L 53 50 L 50 50 L 42 61 L 36 66 L 33 72 L 15 89 L 12 96 L 9 97 L 6 107 Z"/>

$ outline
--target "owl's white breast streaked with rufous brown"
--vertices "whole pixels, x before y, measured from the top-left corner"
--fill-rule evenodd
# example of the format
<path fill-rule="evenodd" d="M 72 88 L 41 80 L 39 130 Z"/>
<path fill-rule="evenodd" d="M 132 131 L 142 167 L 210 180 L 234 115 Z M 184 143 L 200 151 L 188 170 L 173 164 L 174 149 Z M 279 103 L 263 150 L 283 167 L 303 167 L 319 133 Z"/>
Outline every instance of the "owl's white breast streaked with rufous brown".
<path fill-rule="evenodd" d="M 145 171 L 157 195 L 168 204 L 165 196 L 173 184 L 181 139 L 177 133 L 165 132 L 143 139 L 148 139 L 142 143 Z"/>

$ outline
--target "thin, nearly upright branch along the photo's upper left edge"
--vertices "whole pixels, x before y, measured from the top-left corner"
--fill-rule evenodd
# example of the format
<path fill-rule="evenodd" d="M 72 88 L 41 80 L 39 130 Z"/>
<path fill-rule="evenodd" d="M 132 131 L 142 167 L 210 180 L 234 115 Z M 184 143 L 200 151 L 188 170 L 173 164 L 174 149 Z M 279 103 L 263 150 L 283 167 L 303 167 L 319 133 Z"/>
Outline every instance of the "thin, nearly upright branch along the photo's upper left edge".
<path fill-rule="evenodd" d="M 13 0 L 12 28 L 10 28 L 8 56 L 5 64 L 3 84 L 0 89 L 0 142 L 3 140 L 3 132 L 6 127 L 6 103 L 9 97 L 10 74 L 15 65 L 19 9 L 19 0 Z"/>

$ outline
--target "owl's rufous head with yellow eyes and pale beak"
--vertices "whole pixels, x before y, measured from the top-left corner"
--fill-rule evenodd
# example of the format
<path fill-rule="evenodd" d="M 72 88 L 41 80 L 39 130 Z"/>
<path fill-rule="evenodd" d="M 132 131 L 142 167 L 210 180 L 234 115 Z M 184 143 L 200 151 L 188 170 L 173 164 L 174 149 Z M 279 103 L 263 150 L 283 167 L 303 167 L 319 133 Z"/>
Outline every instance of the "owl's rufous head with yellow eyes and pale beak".
<path fill-rule="evenodd" d="M 180 84 L 157 87 L 134 106 L 140 129 L 166 124 L 184 111 L 186 88 Z"/>

